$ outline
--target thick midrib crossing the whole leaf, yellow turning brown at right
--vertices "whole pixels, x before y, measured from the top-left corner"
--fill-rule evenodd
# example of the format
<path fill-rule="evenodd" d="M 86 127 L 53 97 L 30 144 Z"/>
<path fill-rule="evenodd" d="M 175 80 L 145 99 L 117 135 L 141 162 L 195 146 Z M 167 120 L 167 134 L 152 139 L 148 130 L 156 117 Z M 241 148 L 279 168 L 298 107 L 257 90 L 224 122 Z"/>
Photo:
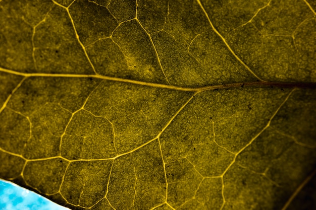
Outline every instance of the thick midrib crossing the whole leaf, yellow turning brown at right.
<path fill-rule="evenodd" d="M 219 90 L 219 89 L 229 89 L 229 88 L 243 88 L 243 87 L 266 87 L 266 88 L 302 88 L 302 89 L 316 89 L 316 83 L 300 83 L 300 82 L 267 82 L 267 81 L 254 81 L 254 82 L 240 82 L 240 83 L 229 83 L 220 85 L 211 85 L 197 88 L 190 87 L 179 87 L 165 84 L 148 83 L 136 80 L 129 80 L 124 78 L 115 78 L 103 75 L 77 75 L 77 74 L 45 74 L 45 73 L 21 73 L 12 71 L 10 69 L 5 69 L 0 67 L 0 72 L 9 73 L 13 75 L 19 75 L 26 78 L 31 77 L 64 77 L 64 78 L 95 78 L 101 80 L 109 80 L 122 83 L 130 83 L 135 85 L 149 86 L 155 88 L 164 88 L 171 90 L 187 91 L 187 92 L 201 92 L 206 90 Z"/>

